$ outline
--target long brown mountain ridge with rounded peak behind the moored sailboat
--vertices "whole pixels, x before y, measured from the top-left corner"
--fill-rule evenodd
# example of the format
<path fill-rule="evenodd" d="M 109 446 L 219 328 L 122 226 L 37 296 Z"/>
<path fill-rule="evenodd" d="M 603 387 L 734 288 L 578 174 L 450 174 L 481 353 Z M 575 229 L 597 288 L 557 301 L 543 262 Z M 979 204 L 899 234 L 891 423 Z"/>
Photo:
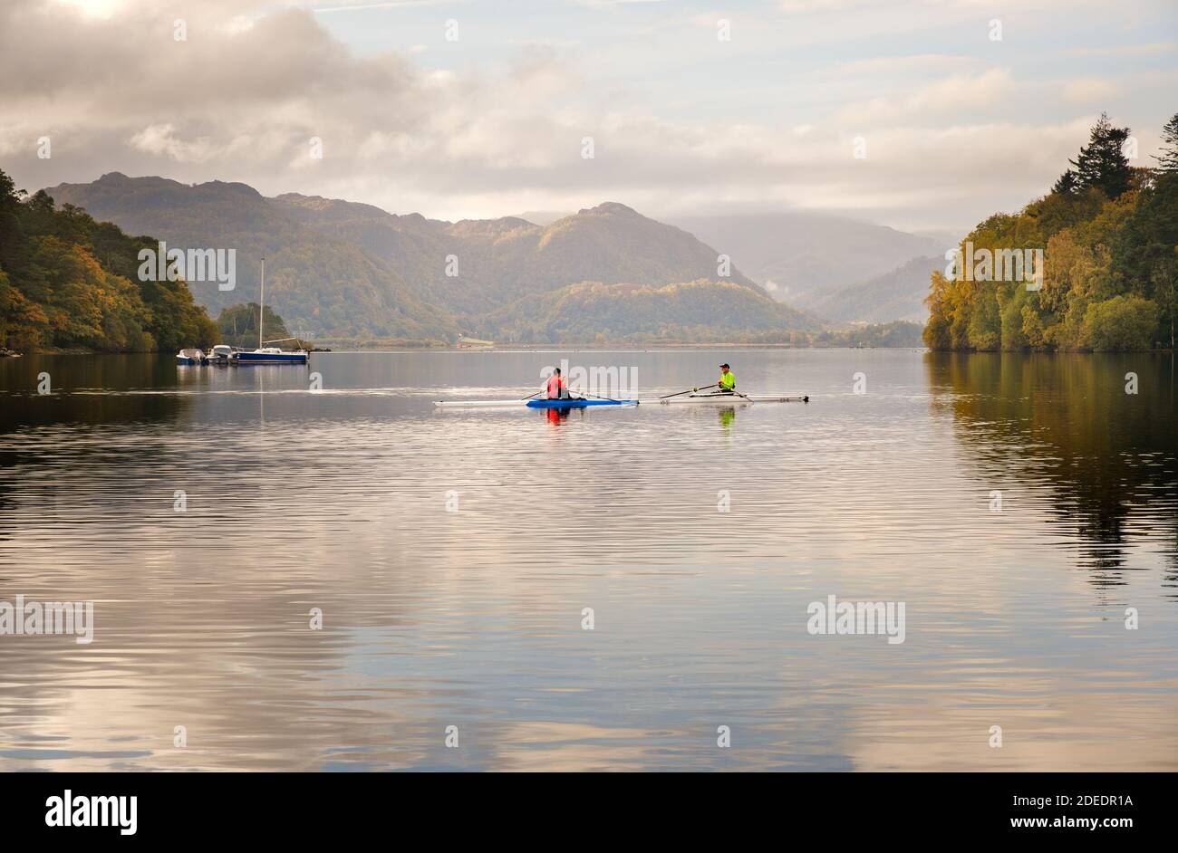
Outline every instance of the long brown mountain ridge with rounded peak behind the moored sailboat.
<path fill-rule="evenodd" d="M 296 193 L 265 198 L 244 184 L 188 186 L 119 173 L 47 192 L 171 247 L 237 248 L 234 291 L 192 285 L 214 313 L 258 299 L 264 255 L 266 302 L 292 333 L 452 339 L 485 332 L 487 316 L 501 308 L 576 282 L 660 287 L 716 278 L 715 249 L 614 202 L 541 226 L 514 216 L 398 216 Z M 728 280 L 767 295 L 736 268 Z"/>

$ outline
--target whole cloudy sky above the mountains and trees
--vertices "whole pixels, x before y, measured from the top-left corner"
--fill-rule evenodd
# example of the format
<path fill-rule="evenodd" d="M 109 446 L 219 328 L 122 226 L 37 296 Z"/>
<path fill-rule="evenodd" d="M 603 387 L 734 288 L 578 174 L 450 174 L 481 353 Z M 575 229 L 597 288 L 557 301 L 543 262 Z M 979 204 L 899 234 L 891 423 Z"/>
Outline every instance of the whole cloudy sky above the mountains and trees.
<path fill-rule="evenodd" d="M 28 191 L 964 233 L 1047 192 L 1101 111 L 1152 165 L 1176 93 L 1178 0 L 0 2 L 0 168 Z"/>

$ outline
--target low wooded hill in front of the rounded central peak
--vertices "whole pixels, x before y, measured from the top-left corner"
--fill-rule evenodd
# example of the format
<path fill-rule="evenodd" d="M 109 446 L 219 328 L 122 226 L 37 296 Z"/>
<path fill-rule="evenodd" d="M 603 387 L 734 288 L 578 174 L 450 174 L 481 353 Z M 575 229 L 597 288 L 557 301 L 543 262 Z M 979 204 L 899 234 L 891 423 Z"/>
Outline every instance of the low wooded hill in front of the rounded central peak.
<path fill-rule="evenodd" d="M 485 319 L 483 331 L 505 342 L 702 344 L 819 328 L 814 319 L 763 292 L 701 279 L 663 286 L 583 281 L 501 308 Z"/>

